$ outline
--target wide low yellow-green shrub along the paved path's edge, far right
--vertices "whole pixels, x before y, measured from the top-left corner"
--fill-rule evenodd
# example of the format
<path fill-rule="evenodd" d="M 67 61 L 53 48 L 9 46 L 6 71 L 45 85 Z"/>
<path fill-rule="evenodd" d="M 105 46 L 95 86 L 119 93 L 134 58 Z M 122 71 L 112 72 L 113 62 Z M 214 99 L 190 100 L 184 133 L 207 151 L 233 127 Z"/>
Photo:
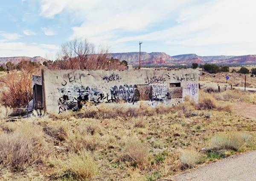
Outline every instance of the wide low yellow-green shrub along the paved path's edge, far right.
<path fill-rule="evenodd" d="M 233 149 L 238 151 L 252 137 L 244 132 L 227 132 L 214 135 L 209 143 L 210 149 Z"/>

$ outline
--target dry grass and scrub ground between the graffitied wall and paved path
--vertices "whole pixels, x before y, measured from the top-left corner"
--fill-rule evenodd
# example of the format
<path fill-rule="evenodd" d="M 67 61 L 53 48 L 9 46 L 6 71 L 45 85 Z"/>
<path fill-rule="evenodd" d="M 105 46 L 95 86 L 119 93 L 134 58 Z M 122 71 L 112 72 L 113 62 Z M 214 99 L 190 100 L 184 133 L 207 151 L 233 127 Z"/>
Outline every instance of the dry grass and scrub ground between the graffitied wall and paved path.
<path fill-rule="evenodd" d="M 5 169 L 0 178 L 17 180 L 20 176 L 10 175 L 30 169 L 34 175 L 25 174 L 26 179 L 156 181 L 255 149 L 256 124 L 205 94 L 199 106 L 189 98 L 157 109 L 100 104 L 81 112 L 1 122 L 0 167 Z"/>

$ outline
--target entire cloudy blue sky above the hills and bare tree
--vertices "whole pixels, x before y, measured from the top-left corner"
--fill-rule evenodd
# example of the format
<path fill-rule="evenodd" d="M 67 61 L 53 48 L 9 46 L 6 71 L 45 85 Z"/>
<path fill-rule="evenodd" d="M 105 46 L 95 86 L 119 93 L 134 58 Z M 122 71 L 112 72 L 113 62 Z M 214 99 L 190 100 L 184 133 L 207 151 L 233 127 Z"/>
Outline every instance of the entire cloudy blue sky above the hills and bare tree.
<path fill-rule="evenodd" d="M 0 57 L 55 59 L 86 38 L 110 52 L 256 54 L 254 0 L 1 0 Z"/>

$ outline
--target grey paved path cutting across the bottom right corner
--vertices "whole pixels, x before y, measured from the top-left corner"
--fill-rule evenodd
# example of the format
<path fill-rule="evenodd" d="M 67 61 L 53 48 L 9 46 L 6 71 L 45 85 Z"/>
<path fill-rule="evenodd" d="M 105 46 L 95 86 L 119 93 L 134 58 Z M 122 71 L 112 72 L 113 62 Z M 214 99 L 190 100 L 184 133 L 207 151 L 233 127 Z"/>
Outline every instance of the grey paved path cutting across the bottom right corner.
<path fill-rule="evenodd" d="M 256 181 L 256 151 L 184 172 L 172 181 Z"/>

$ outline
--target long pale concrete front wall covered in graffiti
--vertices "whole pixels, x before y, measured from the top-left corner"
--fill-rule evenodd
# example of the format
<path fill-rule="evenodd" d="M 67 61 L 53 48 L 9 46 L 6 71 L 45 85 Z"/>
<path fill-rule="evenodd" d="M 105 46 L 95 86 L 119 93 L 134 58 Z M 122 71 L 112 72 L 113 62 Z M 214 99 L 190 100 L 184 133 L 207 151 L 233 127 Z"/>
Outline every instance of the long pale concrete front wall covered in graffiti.
<path fill-rule="evenodd" d="M 198 72 L 184 70 L 82 71 L 44 70 L 45 106 L 49 113 L 95 103 L 148 101 L 175 106 L 186 95 L 198 102 Z"/>

